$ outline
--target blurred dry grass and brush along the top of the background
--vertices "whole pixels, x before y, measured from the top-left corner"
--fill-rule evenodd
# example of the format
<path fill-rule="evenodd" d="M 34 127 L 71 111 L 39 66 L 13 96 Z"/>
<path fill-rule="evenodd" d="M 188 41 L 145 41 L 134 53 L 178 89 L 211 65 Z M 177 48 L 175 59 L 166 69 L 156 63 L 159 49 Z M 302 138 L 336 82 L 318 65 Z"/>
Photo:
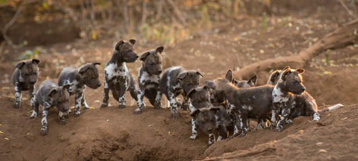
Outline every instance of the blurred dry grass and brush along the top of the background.
<path fill-rule="evenodd" d="M 1 0 L 0 38 L 13 47 L 75 38 L 173 44 L 218 32 L 220 24 L 242 15 L 270 15 L 270 5 L 270 0 Z"/>

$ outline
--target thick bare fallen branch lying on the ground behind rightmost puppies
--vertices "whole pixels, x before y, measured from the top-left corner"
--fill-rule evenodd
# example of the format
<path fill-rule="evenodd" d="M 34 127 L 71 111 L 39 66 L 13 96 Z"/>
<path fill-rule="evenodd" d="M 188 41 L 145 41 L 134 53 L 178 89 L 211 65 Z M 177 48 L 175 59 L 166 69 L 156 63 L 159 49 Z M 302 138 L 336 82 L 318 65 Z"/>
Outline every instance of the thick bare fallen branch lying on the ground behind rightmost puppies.
<path fill-rule="evenodd" d="M 259 61 L 241 68 L 234 72 L 236 79 L 249 77 L 259 71 L 270 71 L 271 69 L 281 69 L 285 66 L 304 67 L 309 61 L 328 49 L 342 48 L 352 45 L 358 40 L 358 19 L 343 24 L 332 33 L 313 44 L 312 46 L 300 51 L 297 56 L 278 57 Z"/>

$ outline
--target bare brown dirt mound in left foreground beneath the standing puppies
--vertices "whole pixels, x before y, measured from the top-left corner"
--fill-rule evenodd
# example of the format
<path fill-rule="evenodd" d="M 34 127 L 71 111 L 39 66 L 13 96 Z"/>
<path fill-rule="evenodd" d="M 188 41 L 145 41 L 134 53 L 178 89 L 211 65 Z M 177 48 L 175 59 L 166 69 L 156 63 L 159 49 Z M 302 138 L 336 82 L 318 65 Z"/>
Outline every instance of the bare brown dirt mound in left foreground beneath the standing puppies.
<path fill-rule="evenodd" d="M 90 109 L 78 118 L 70 114 L 64 126 L 52 109 L 49 133 L 42 137 L 41 117 L 29 119 L 29 101 L 23 101 L 20 110 L 12 104 L 13 98 L 0 97 L 3 160 L 190 160 L 202 158 L 208 141 L 206 135 L 188 140 L 188 112 L 171 120 L 169 110 L 145 108 L 133 115 L 133 106 Z"/>

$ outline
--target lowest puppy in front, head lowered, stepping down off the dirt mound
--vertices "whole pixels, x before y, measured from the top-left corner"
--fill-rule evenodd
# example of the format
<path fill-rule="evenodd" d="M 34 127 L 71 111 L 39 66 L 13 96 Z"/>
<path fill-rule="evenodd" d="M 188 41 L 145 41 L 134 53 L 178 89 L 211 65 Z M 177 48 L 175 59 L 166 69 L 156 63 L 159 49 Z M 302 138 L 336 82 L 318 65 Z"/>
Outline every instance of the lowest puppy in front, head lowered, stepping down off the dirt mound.
<path fill-rule="evenodd" d="M 208 147 L 215 142 L 216 131 L 219 134 L 217 141 L 228 137 L 226 127 L 230 123 L 226 119 L 230 118 L 230 116 L 223 106 L 196 109 L 190 116 L 197 122 L 200 129 L 209 135 Z"/>

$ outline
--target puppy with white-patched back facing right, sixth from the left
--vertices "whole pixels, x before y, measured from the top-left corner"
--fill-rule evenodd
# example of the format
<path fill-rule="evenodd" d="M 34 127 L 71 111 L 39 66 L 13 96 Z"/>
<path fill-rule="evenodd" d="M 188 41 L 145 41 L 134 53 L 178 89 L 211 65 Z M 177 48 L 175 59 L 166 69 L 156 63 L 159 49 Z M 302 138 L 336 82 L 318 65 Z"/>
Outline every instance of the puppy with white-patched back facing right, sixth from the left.
<path fill-rule="evenodd" d="M 180 94 L 184 97 L 181 105 L 182 110 L 189 110 L 187 94 L 191 89 L 199 87 L 200 76 L 204 75 L 199 71 L 187 71 L 180 66 L 171 67 L 164 72 L 159 87 L 170 101 L 171 118 L 177 119 L 180 117 L 177 110 L 177 104 L 180 103 L 176 100 L 176 97 Z"/>

